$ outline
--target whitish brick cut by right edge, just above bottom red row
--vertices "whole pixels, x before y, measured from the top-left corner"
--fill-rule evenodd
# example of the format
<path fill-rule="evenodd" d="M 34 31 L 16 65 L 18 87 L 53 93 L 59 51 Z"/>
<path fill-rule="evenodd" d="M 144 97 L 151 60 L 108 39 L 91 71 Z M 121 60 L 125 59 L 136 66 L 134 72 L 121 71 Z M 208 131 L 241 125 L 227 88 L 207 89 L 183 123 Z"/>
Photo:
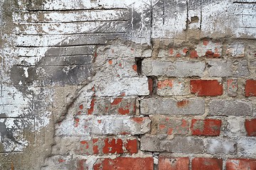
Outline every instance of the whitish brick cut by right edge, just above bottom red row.
<path fill-rule="evenodd" d="M 255 137 L 242 137 L 238 140 L 238 155 L 243 157 L 256 157 Z"/>

